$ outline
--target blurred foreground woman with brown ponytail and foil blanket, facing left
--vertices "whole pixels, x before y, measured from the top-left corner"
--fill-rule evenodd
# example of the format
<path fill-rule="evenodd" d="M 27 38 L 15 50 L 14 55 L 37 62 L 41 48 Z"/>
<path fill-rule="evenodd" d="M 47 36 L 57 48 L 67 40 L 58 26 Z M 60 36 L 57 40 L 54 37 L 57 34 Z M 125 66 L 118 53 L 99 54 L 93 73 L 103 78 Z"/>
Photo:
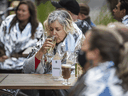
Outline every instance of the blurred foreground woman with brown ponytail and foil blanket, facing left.
<path fill-rule="evenodd" d="M 80 65 L 86 71 L 65 96 L 128 96 L 127 32 L 127 28 L 97 26 L 85 34 L 81 49 L 87 61 Z"/>

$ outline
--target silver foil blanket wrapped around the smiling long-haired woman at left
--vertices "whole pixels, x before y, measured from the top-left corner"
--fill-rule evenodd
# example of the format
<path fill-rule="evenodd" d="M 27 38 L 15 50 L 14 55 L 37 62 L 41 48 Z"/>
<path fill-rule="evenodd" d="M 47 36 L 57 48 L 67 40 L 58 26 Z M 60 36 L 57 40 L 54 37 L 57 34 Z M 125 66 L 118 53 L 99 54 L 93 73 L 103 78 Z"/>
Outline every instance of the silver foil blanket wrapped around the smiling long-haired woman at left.
<path fill-rule="evenodd" d="M 39 23 L 34 39 L 31 39 L 31 24 L 28 23 L 25 29 L 21 32 L 19 29 L 19 22 L 13 26 L 9 33 L 9 27 L 15 15 L 8 16 L 0 27 L 0 41 L 4 44 L 6 55 L 11 56 L 12 53 L 18 53 L 28 47 L 35 46 L 37 38 L 43 34 L 43 26 Z M 22 69 L 23 62 L 26 58 L 10 57 L 5 62 L 0 62 L 0 69 Z"/>

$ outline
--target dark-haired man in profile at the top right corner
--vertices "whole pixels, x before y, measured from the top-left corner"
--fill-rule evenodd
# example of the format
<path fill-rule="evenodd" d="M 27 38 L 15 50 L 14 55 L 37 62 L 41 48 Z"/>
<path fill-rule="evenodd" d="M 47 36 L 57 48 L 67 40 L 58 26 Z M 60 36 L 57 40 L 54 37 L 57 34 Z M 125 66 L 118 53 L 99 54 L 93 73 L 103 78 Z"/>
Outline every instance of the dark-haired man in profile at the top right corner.
<path fill-rule="evenodd" d="M 115 9 L 113 9 L 113 14 L 117 21 L 122 22 L 124 25 L 128 26 L 128 1 L 120 0 Z"/>

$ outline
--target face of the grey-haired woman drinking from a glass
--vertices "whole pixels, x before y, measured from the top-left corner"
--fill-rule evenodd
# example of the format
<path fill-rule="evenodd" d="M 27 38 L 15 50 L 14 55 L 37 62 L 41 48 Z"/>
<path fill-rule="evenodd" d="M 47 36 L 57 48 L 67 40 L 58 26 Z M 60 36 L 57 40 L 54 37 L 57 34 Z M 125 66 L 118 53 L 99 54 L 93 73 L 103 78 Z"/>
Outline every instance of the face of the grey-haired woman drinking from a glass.
<path fill-rule="evenodd" d="M 56 37 L 56 43 L 60 43 L 64 40 L 66 32 L 64 31 L 63 26 L 56 20 L 50 25 L 50 35 Z"/>

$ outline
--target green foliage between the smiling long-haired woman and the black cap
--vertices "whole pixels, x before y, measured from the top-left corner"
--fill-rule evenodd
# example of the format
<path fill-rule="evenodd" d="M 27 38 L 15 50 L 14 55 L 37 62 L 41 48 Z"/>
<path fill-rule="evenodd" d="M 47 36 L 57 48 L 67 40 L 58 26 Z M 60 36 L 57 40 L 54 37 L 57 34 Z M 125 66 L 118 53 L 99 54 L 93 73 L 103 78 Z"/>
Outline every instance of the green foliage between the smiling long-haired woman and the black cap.
<path fill-rule="evenodd" d="M 55 7 L 51 4 L 50 1 L 47 1 L 45 4 L 41 3 L 39 6 L 37 6 L 38 20 L 43 24 L 48 15 L 54 10 Z"/>

